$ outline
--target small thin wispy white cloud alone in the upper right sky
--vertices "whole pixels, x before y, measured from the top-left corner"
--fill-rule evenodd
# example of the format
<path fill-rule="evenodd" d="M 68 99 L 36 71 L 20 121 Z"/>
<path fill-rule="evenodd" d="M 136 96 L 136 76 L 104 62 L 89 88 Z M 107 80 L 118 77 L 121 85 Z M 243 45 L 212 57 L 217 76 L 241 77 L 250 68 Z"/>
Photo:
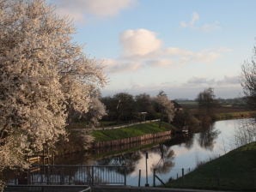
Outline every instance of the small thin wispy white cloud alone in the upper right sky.
<path fill-rule="evenodd" d="M 187 22 L 181 21 L 180 27 L 197 29 L 197 30 L 200 30 L 203 32 L 215 31 L 215 30 L 221 28 L 219 21 L 214 21 L 211 23 L 204 23 L 203 25 L 197 25 L 199 19 L 200 19 L 200 15 L 197 12 L 193 12 L 191 21 L 187 21 Z"/>

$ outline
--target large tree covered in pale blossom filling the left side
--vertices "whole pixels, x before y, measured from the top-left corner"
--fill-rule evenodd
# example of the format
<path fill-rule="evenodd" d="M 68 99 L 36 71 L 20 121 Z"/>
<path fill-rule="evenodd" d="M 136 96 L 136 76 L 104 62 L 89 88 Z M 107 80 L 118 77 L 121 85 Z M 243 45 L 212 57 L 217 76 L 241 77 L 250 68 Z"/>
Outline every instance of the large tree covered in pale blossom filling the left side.
<path fill-rule="evenodd" d="M 105 84 L 74 32 L 44 0 L 0 0 L 0 171 L 54 145 L 70 111 L 86 113 Z"/>

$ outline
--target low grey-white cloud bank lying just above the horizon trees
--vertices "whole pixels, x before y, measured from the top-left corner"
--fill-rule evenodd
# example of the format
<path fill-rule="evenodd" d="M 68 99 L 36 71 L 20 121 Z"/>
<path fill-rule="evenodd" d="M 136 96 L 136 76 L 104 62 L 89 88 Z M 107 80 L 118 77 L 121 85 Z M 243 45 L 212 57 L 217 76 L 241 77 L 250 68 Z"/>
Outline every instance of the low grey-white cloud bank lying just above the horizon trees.
<path fill-rule="evenodd" d="M 151 83 L 143 85 L 143 83 L 131 83 L 131 87 L 118 90 L 103 90 L 103 95 L 111 95 L 114 93 L 127 92 L 134 95 L 140 93 L 149 93 L 155 96 L 159 91 L 164 90 L 168 94 L 169 99 L 196 99 L 198 93 L 204 91 L 205 88 L 214 88 L 216 97 L 235 98 L 243 96 L 240 77 L 223 76 L 222 79 L 209 79 L 202 76 L 193 76 L 184 83 L 176 83 L 171 81 L 162 82 L 161 84 Z"/>

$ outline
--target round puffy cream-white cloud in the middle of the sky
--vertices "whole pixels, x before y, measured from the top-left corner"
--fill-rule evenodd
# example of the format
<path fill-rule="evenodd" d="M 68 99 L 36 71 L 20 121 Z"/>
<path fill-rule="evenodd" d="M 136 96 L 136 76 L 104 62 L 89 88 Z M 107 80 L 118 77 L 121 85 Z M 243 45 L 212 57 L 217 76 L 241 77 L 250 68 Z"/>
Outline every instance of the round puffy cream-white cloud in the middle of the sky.
<path fill-rule="evenodd" d="M 145 56 L 161 48 L 162 41 L 147 29 L 126 30 L 120 35 L 125 57 Z"/>

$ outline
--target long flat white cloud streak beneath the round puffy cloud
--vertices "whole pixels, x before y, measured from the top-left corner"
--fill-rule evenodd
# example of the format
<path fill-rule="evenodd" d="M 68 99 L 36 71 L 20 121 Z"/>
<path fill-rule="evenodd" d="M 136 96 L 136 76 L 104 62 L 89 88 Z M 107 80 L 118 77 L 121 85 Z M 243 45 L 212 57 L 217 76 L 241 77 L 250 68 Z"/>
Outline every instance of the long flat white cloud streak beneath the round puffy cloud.
<path fill-rule="evenodd" d="M 143 52 L 148 52 L 142 49 Z M 188 51 L 176 47 L 168 47 L 166 49 L 159 49 L 157 51 L 147 55 L 141 55 L 137 57 L 138 53 L 142 51 L 135 47 L 134 50 L 129 52 L 130 57 L 119 57 L 118 59 L 104 59 L 104 65 L 106 66 L 107 73 L 127 72 L 135 71 L 137 69 L 160 67 L 169 68 L 177 67 L 180 65 L 192 64 L 192 63 L 213 63 L 216 59 L 222 57 L 222 54 L 230 51 L 229 49 L 220 48 L 215 50 L 202 50 L 202 51 Z M 137 53 L 137 54 L 135 54 Z M 145 57 L 146 56 L 146 57 Z"/>

